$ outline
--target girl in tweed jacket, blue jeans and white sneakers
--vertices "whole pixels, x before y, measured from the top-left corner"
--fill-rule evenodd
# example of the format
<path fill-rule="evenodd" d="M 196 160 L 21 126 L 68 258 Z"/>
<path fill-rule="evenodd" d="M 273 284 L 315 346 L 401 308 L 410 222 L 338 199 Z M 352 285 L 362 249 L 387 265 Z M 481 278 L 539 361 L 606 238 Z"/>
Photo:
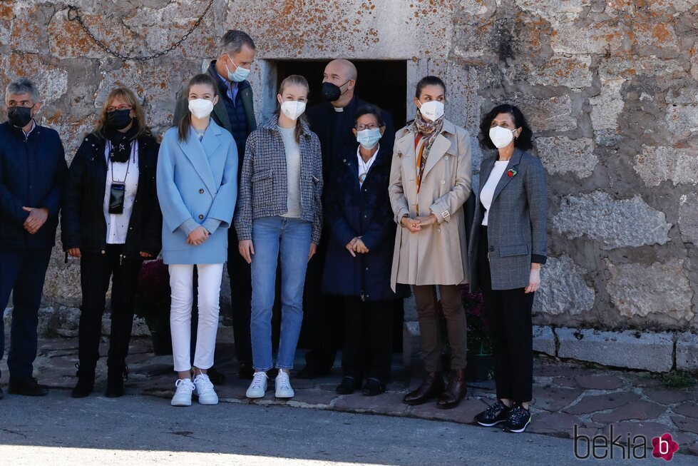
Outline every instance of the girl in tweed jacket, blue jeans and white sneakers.
<path fill-rule="evenodd" d="M 304 117 L 308 83 L 289 76 L 281 83 L 279 112 L 250 134 L 240 178 L 235 228 L 242 257 L 252 268 L 252 365 L 247 397 L 264 397 L 272 368 L 272 306 L 281 262 L 282 324 L 276 396 L 293 397 L 293 368 L 303 321 L 303 286 L 322 228 L 322 154 Z"/>

